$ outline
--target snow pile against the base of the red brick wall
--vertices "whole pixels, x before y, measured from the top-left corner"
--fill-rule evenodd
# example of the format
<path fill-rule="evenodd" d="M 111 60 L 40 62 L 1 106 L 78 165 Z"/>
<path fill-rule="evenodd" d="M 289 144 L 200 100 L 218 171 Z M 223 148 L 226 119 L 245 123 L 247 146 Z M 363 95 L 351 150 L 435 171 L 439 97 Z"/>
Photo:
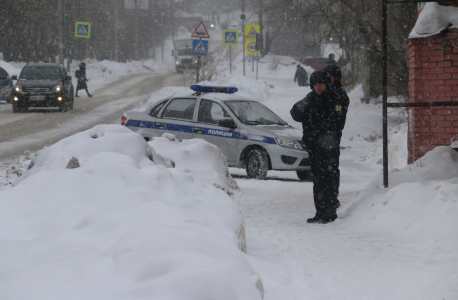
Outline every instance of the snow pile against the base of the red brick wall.
<path fill-rule="evenodd" d="M 458 152 L 436 147 L 390 172 L 390 187 L 382 186 L 380 175 L 344 207 L 339 218 L 372 236 L 421 243 L 425 249 L 447 246 L 443 251 L 458 253 Z"/>

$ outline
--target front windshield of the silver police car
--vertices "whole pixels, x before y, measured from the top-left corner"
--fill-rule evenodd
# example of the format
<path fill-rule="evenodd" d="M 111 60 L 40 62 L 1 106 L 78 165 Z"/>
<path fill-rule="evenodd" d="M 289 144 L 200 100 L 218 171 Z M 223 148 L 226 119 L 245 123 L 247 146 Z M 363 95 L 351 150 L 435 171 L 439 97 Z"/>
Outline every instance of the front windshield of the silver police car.
<path fill-rule="evenodd" d="M 243 124 L 288 125 L 288 123 L 259 102 L 227 101 L 225 103 Z"/>

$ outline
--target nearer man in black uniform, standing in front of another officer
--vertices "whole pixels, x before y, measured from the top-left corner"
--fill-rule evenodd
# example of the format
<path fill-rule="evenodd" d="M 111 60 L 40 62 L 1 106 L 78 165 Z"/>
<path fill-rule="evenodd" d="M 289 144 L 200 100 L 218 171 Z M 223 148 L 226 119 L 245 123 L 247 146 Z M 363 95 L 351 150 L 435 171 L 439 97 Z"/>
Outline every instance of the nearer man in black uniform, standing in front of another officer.
<path fill-rule="evenodd" d="M 313 198 L 316 215 L 308 223 L 326 224 L 337 218 L 340 203 L 340 139 L 345 126 L 348 97 L 331 84 L 329 75 L 315 71 L 310 76 L 313 90 L 294 104 L 291 116 L 302 122 L 303 137 L 313 174 Z"/>

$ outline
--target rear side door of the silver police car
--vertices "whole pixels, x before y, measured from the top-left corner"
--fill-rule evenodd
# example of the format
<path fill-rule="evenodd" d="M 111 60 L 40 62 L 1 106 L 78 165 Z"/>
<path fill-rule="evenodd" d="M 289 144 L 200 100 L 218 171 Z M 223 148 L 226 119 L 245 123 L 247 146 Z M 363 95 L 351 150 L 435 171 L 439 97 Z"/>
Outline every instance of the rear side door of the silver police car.
<path fill-rule="evenodd" d="M 196 98 L 172 99 L 162 111 L 161 118 L 154 123 L 157 135 L 169 132 L 180 140 L 192 139 L 196 102 Z"/>

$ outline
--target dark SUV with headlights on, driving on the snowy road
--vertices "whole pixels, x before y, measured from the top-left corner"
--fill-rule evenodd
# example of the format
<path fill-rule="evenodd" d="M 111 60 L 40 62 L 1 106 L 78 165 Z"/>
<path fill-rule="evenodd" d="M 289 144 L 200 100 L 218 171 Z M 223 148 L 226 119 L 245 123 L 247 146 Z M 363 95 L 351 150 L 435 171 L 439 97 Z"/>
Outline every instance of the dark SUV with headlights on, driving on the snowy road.
<path fill-rule="evenodd" d="M 57 63 L 29 63 L 21 71 L 13 87 L 13 112 L 24 112 L 29 107 L 59 107 L 65 112 L 73 108 L 72 77 Z"/>

